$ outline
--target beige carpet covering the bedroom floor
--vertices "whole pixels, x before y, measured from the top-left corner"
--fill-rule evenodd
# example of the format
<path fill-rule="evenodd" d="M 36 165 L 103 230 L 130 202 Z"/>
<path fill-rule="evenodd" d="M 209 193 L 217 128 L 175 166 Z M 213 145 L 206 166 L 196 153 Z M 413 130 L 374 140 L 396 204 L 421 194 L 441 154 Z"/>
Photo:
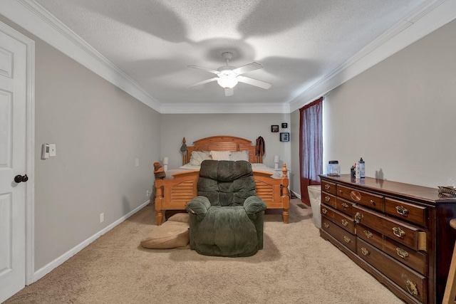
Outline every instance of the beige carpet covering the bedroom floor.
<path fill-rule="evenodd" d="M 266 214 L 264 249 L 248 258 L 141 248 L 155 224 L 146 206 L 5 303 L 403 303 L 321 239 L 298 204 L 289 224 Z"/>

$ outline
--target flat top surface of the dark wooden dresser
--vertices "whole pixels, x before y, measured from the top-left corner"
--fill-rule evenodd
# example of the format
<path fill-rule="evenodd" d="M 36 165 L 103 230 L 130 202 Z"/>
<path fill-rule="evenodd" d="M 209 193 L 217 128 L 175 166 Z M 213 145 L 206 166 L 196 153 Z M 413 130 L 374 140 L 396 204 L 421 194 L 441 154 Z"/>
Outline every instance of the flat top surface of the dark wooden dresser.
<path fill-rule="evenodd" d="M 351 187 L 362 188 L 374 192 L 381 192 L 383 194 L 393 194 L 405 199 L 418 199 L 428 204 L 446 204 L 456 202 L 456 197 L 440 197 L 437 187 L 423 187 L 414 184 L 392 182 L 385 179 L 375 179 L 372 177 L 356 179 L 355 177 L 351 177 L 351 174 L 341 174 L 339 177 L 328 177 L 327 175 L 320 175 L 320 177 L 321 179 L 329 180 L 335 183 L 346 184 Z"/>

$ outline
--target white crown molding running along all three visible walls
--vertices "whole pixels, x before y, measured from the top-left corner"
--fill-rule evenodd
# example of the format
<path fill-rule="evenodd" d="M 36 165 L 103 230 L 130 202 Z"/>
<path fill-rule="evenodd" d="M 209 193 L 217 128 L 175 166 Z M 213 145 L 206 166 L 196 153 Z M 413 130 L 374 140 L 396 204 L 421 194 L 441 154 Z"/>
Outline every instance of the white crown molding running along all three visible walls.
<path fill-rule="evenodd" d="M 379 36 L 336 70 L 306 88 L 289 103 L 279 104 L 165 104 L 160 103 L 130 76 L 83 41 L 70 28 L 34 0 L 2 0 L 0 14 L 41 38 L 93 73 L 108 80 L 160 113 L 289 113 L 321 97 L 373 65 L 456 18 L 456 1 L 427 1 L 419 9 Z"/>

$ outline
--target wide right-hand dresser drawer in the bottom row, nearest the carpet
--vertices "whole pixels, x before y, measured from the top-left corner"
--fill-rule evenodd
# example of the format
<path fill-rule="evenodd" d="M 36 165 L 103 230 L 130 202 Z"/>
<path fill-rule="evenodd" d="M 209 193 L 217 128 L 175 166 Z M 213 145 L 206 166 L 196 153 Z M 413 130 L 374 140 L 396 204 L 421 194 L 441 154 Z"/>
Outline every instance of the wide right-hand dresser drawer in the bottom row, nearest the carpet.
<path fill-rule="evenodd" d="M 408 294 L 420 302 L 427 302 L 427 278 L 395 261 L 365 241 L 358 239 L 357 253 L 364 261 L 388 276 Z"/>

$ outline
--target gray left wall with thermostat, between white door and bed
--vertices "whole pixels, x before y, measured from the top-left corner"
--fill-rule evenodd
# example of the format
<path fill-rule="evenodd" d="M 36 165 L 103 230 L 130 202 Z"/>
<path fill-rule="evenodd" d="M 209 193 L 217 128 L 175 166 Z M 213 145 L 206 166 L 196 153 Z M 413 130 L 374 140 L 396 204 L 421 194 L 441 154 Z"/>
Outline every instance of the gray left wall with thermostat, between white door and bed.
<path fill-rule="evenodd" d="M 37 271 L 148 201 L 152 162 L 160 155 L 160 114 L 2 16 L 0 21 L 36 41 Z M 57 145 L 56 157 L 41 159 L 45 142 Z"/>

